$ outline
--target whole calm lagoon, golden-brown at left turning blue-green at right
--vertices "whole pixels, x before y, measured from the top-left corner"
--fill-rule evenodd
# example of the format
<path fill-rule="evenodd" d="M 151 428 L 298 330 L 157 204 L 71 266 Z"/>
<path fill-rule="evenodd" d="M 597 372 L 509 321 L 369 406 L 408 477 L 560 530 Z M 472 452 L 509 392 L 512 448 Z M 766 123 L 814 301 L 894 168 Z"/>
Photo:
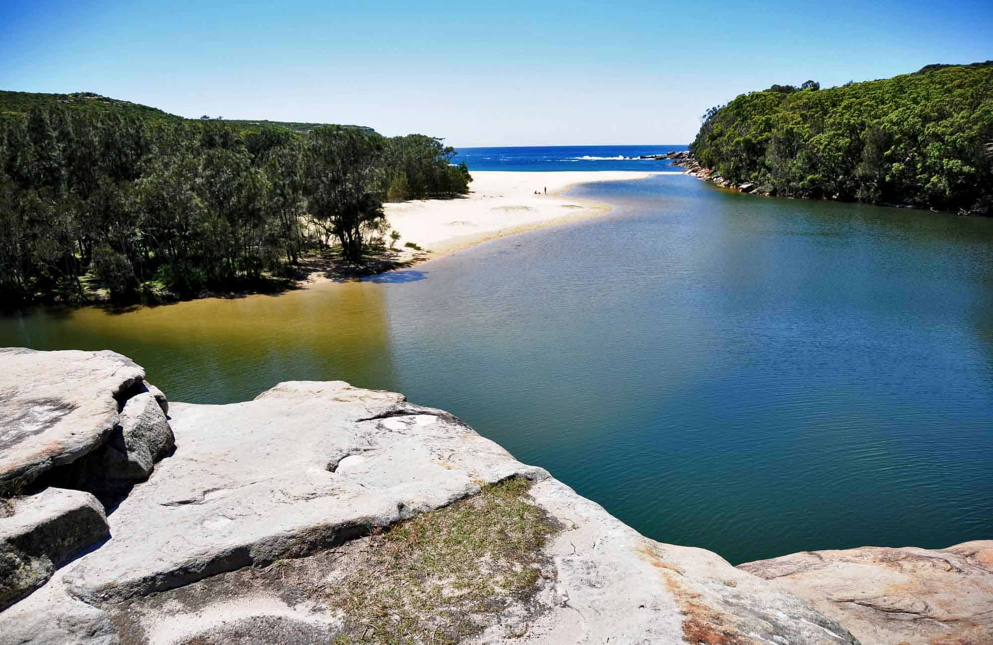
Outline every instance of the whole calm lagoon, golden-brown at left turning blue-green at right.
<path fill-rule="evenodd" d="M 176 401 L 401 391 L 733 564 L 993 536 L 993 221 L 679 175 L 572 194 L 616 208 L 362 283 L 26 312 L 0 343 L 114 349 Z"/>

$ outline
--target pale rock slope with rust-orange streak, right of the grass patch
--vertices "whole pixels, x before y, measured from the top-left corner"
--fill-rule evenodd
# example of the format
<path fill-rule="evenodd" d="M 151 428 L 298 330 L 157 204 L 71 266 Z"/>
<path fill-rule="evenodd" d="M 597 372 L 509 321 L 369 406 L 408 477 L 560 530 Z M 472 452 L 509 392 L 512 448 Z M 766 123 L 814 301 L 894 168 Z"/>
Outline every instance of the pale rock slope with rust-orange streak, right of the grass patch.
<path fill-rule="evenodd" d="M 525 633 L 487 633 L 478 642 L 858 643 L 796 596 L 713 552 L 649 540 L 557 479 L 538 482 L 531 494 L 566 527 L 548 547 L 554 593 Z"/>

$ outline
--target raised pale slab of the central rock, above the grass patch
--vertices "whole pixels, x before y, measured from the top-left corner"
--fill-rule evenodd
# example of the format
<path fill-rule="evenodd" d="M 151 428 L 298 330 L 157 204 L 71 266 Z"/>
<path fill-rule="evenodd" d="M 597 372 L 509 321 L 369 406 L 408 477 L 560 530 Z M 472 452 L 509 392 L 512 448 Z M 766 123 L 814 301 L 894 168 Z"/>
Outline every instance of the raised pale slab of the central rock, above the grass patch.
<path fill-rule="evenodd" d="M 113 539 L 66 573 L 83 599 L 305 555 L 513 474 L 547 476 L 451 415 L 343 382 L 170 412 L 176 453 L 110 515 Z"/>

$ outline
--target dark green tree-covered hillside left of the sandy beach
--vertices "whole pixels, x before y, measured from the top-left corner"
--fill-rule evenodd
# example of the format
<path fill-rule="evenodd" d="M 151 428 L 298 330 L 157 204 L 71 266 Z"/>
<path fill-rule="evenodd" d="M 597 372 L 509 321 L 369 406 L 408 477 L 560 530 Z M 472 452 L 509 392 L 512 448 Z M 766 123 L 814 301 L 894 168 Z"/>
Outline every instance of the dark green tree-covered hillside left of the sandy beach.
<path fill-rule="evenodd" d="M 388 231 L 384 199 L 472 181 L 432 137 L 245 127 L 94 96 L 0 92 L 0 304 L 85 300 L 83 276 L 118 301 L 237 288 L 329 244 L 361 264 Z"/>

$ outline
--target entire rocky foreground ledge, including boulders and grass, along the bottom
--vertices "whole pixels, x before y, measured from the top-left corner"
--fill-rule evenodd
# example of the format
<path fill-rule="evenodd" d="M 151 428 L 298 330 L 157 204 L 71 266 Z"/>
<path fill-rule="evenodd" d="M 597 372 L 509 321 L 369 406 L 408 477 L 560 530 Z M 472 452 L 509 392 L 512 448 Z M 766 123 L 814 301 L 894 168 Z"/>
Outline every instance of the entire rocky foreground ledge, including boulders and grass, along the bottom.
<path fill-rule="evenodd" d="M 4 645 L 993 640 L 993 541 L 735 568 L 400 394 L 170 404 L 109 351 L 0 365 Z"/>

